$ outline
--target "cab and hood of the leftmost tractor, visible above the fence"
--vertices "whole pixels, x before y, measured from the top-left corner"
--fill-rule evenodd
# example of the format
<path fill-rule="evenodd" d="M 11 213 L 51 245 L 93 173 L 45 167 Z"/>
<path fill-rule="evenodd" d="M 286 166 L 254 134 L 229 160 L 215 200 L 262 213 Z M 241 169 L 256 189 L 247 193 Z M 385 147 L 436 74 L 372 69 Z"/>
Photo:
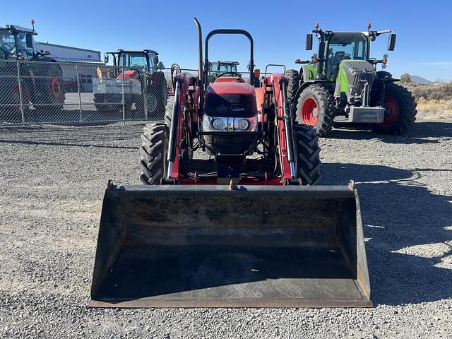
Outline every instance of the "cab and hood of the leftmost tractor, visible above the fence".
<path fill-rule="evenodd" d="M 34 21 L 31 23 L 34 25 Z M 49 52 L 38 52 L 35 45 L 35 29 L 18 25 L 0 25 L 0 60 L 54 61 Z"/>

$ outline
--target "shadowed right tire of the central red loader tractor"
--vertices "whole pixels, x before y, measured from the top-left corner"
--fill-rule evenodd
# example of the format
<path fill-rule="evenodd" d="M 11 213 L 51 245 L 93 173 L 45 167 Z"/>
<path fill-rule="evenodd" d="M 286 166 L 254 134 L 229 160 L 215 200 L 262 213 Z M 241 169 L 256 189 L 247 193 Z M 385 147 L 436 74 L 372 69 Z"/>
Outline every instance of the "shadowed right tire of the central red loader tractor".
<path fill-rule="evenodd" d="M 303 185 L 315 185 L 320 180 L 320 146 L 316 130 L 307 125 L 294 125 L 296 170 Z"/>

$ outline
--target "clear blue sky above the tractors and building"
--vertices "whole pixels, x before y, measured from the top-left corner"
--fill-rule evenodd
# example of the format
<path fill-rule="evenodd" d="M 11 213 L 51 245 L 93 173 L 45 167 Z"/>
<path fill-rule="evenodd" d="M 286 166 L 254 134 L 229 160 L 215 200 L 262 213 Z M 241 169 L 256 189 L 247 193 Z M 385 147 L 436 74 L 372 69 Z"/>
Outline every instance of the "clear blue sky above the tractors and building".
<path fill-rule="evenodd" d="M 449 24 L 452 1 L 4 1 L 0 24 L 30 26 L 35 19 L 39 41 L 96 49 L 153 48 L 165 66 L 177 62 L 196 67 L 196 16 L 203 34 L 215 28 L 244 28 L 254 36 L 255 63 L 286 64 L 309 59 L 304 35 L 316 22 L 326 30 L 391 28 L 397 33 L 394 52 L 386 52 L 387 35 L 377 38 L 371 55 L 389 54 L 387 71 L 408 72 L 431 81 L 452 81 L 452 47 Z M 244 37 L 213 37 L 210 59 L 234 59 L 244 69 L 249 49 Z"/>

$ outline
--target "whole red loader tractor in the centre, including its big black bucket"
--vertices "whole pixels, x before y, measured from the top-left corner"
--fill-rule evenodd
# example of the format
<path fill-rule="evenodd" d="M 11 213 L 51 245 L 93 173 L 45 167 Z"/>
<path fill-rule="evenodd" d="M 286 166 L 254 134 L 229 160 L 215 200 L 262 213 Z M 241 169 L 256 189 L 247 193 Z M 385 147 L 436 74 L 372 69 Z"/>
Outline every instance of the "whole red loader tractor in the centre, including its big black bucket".
<path fill-rule="evenodd" d="M 249 32 L 209 32 L 203 63 L 195 23 L 198 76 L 174 76 L 165 123 L 145 126 L 144 185 L 107 186 L 90 306 L 371 306 L 354 185 L 310 186 L 319 137 L 293 124 L 285 76 L 256 87 Z M 208 83 L 219 34 L 249 39 L 249 81 Z"/>

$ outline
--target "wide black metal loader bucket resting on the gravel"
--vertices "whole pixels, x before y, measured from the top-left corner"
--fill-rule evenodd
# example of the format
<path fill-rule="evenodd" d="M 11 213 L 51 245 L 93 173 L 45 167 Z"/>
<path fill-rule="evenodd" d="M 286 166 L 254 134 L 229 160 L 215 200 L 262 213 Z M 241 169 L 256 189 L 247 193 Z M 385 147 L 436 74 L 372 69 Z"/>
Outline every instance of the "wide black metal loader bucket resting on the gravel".
<path fill-rule="evenodd" d="M 371 307 L 348 186 L 112 186 L 91 307 Z"/>

